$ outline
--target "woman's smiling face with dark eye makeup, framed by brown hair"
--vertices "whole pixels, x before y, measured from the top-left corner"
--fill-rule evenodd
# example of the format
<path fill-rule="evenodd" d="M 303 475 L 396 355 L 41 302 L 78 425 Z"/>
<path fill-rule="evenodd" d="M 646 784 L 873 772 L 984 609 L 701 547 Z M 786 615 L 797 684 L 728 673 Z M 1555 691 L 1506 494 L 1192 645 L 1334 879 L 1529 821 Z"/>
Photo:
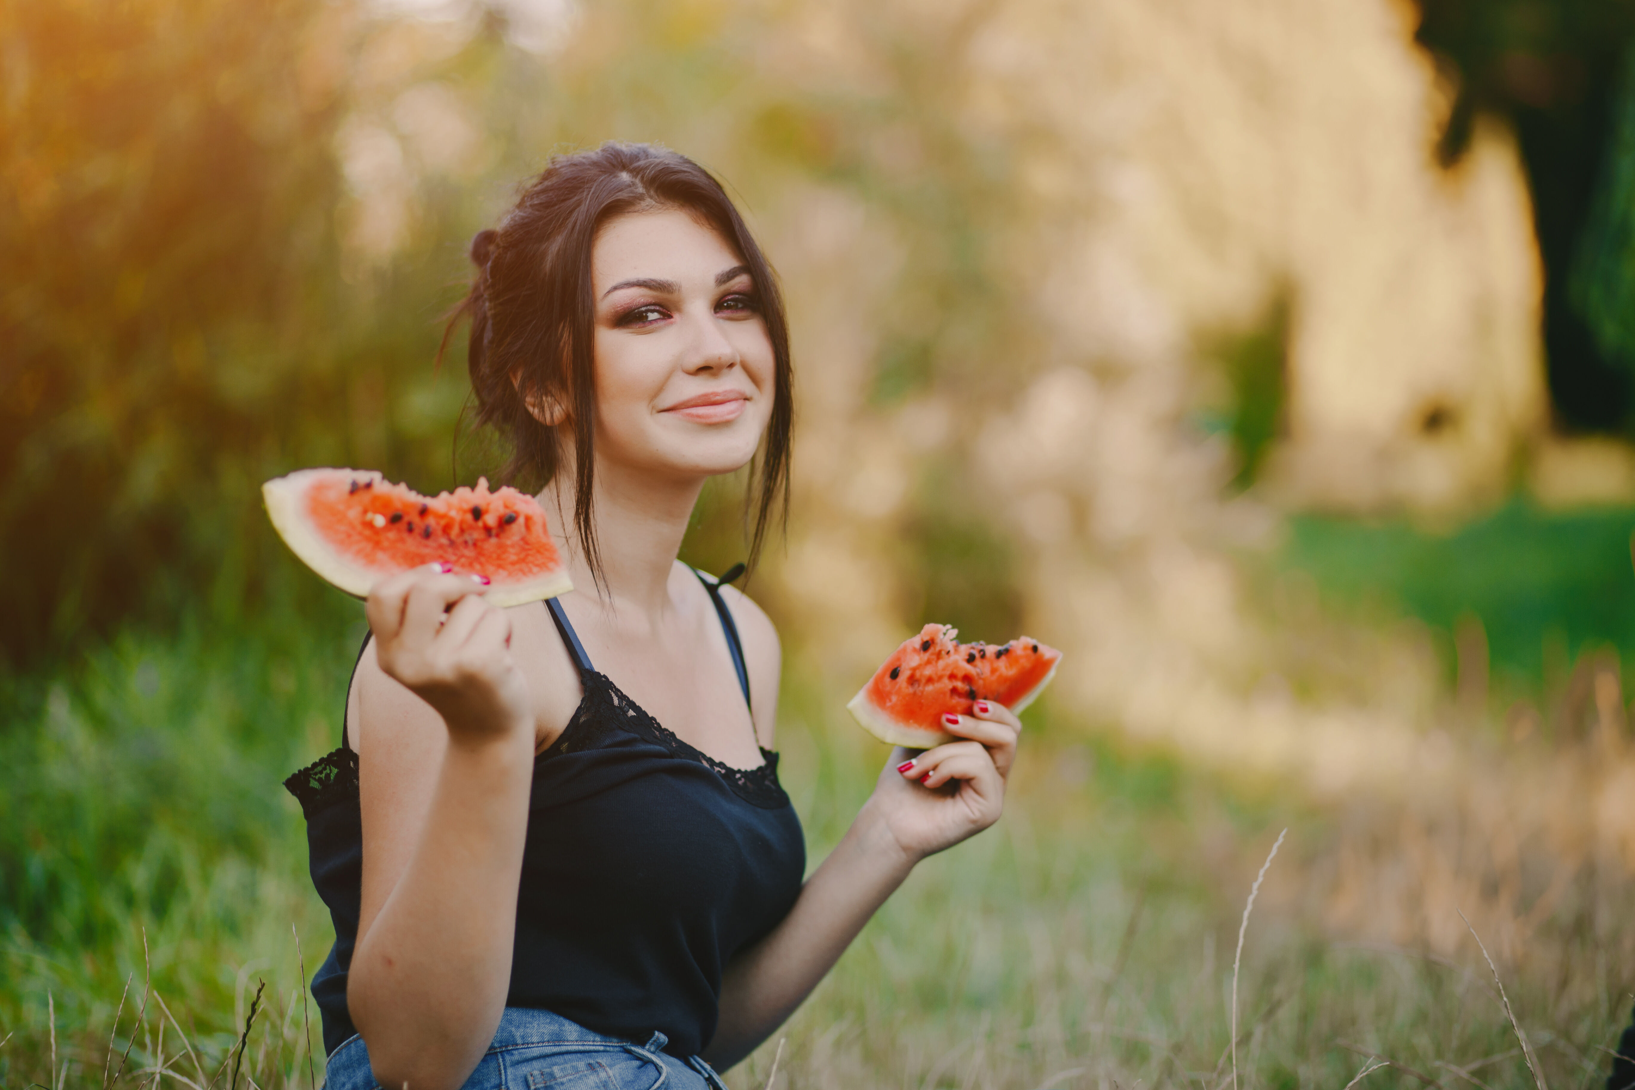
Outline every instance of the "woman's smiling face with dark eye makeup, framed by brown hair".
<path fill-rule="evenodd" d="M 683 211 L 610 221 L 592 252 L 597 461 L 705 477 L 772 415 L 772 338 L 742 258 Z"/>

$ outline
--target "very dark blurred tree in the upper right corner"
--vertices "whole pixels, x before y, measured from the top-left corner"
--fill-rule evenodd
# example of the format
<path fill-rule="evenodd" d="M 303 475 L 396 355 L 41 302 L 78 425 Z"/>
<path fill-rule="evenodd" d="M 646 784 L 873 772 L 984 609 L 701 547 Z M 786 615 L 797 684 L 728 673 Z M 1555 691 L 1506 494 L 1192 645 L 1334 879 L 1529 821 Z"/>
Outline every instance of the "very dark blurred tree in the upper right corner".
<path fill-rule="evenodd" d="M 1635 417 L 1635 353 L 1604 320 L 1606 293 L 1624 289 L 1586 286 L 1586 278 L 1607 275 L 1617 261 L 1581 255 L 1635 242 L 1635 232 L 1609 235 L 1606 214 L 1591 221 L 1597 204 L 1627 209 L 1635 201 L 1635 172 L 1609 155 L 1620 98 L 1635 90 L 1622 78 L 1635 42 L 1635 3 L 1418 3 L 1416 39 L 1455 88 L 1437 149 L 1442 162 L 1460 159 L 1481 113 L 1506 118 L 1516 131 L 1545 270 L 1543 342 L 1557 422 L 1570 430 L 1627 430 Z"/>

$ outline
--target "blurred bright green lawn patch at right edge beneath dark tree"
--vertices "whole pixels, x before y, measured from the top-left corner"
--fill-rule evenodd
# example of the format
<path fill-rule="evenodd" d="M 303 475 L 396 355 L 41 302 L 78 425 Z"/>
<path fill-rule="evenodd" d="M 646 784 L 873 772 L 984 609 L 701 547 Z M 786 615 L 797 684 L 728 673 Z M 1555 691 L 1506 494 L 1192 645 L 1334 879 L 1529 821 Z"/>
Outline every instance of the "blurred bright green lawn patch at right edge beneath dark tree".
<path fill-rule="evenodd" d="M 1449 534 L 1308 515 L 1292 520 L 1282 562 L 1310 572 L 1339 603 L 1373 598 L 1406 610 L 1447 647 L 1458 621 L 1475 614 L 1494 673 L 1534 688 L 1560 681 L 1550 675 L 1584 650 L 1635 649 L 1632 529 L 1630 510 L 1552 513 L 1524 500 Z"/>

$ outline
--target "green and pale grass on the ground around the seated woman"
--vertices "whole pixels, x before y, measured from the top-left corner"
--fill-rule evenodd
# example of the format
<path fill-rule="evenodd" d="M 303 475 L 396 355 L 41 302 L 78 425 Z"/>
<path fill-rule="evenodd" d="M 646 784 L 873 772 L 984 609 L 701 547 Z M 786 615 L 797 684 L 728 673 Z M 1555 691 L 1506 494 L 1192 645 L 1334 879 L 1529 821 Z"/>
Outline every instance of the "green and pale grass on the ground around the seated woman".
<path fill-rule="evenodd" d="M 52 1070 L 57 1085 L 101 1085 L 132 1036 L 139 1074 L 123 1085 L 147 1079 L 160 1051 L 193 1082 L 219 1070 L 227 1085 L 258 981 L 240 1064 L 260 1087 L 304 1082 L 291 928 L 307 974 L 330 933 L 280 780 L 334 745 L 356 631 L 356 608 L 340 603 L 231 631 L 128 634 L 33 696 L 15 686 L 20 716 L 0 737 L 0 1087 L 51 1085 Z M 816 860 L 885 750 L 813 677 L 790 665 L 782 748 Z M 1527 1087 L 1473 943 L 1452 959 L 1414 938 L 1360 948 L 1329 923 L 1341 845 L 1373 830 L 1380 866 L 1395 864 L 1396 820 L 1233 786 L 1046 701 L 1006 819 L 921 866 L 870 923 L 780 1034 L 778 1085 L 1220 1090 L 1243 899 L 1288 825 L 1249 927 L 1239 1085 L 1339 1090 L 1364 1049 L 1404 1065 L 1370 1088 L 1419 1085 L 1411 1067 L 1454 1090 L 1439 1062 L 1493 1056 L 1483 1085 Z M 1504 963 L 1557 1090 L 1594 1080 L 1596 1048 L 1625 1015 L 1627 904 L 1615 868 L 1586 868 L 1535 953 Z M 164 1008 L 152 1000 L 136 1030 L 147 972 Z M 729 1083 L 765 1085 L 775 1049 Z"/>

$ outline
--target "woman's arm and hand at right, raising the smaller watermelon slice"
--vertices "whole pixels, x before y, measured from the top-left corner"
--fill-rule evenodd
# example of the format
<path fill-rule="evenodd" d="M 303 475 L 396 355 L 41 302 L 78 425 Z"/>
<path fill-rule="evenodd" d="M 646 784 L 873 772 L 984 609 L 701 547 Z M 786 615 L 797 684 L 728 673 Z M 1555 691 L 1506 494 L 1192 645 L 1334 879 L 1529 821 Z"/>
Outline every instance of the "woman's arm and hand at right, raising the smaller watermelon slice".
<path fill-rule="evenodd" d="M 767 678 L 762 642 L 772 624 L 759 610 L 742 614 L 752 618 L 749 624 L 741 619 L 739 626 L 746 629 L 746 657 L 750 659 L 757 708 L 770 717 L 759 695 L 768 690 L 777 693 L 775 662 Z M 760 631 L 762 624 L 767 631 Z M 775 632 L 772 639 L 777 641 Z M 772 646 L 777 647 L 775 642 Z M 762 667 L 759 678 L 757 665 Z M 945 726 L 950 734 L 968 740 L 924 753 L 896 748 L 880 773 L 875 793 L 835 850 L 806 881 L 790 914 L 770 935 L 728 964 L 721 982 L 721 1018 L 705 1051 L 705 1059 L 718 1069 L 726 1070 L 749 1056 L 783 1025 L 919 860 L 960 843 L 999 819 L 1022 724 L 1006 708 L 979 703 L 976 716 L 956 717 Z"/>

